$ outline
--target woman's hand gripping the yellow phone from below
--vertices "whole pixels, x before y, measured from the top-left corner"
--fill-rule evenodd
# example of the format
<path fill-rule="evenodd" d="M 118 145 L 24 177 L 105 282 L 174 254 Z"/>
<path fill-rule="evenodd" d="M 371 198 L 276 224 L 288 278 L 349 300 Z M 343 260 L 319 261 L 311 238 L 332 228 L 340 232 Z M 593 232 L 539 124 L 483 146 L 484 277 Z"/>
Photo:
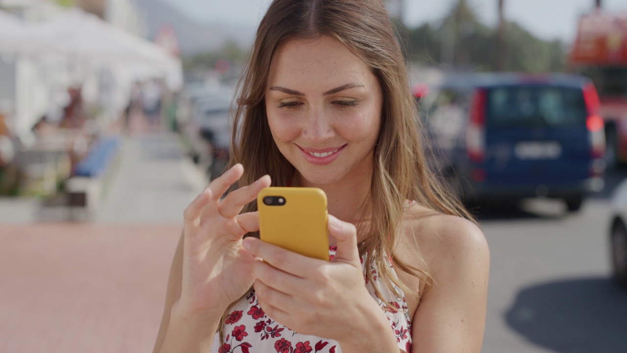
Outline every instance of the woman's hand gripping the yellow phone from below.
<path fill-rule="evenodd" d="M 364 286 L 354 225 L 329 215 L 329 232 L 337 239 L 337 252 L 330 262 L 259 239 L 246 238 L 244 246 L 263 259 L 253 264 L 254 288 L 268 317 L 300 334 L 341 343 L 361 332 L 356 329 L 364 327 L 362 318 L 379 315 L 387 320 Z"/>

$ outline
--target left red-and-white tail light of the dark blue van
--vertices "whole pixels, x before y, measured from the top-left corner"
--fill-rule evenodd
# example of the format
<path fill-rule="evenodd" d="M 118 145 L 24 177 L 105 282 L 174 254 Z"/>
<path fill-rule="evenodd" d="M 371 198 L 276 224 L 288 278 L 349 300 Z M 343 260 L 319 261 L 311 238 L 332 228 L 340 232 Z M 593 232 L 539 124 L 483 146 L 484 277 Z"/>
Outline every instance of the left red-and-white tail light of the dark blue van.
<path fill-rule="evenodd" d="M 485 106 L 488 92 L 478 89 L 475 92 L 470 110 L 470 121 L 466 129 L 466 153 L 468 159 L 479 163 L 485 158 Z"/>

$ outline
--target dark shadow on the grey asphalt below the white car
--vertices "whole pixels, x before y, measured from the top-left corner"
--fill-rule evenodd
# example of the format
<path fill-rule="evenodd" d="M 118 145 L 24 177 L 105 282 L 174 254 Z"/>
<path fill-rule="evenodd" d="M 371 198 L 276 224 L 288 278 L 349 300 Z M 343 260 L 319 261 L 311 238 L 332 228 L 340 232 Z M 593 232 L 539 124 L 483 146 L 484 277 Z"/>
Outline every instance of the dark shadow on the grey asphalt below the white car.
<path fill-rule="evenodd" d="M 627 351 L 627 290 L 609 278 L 525 288 L 505 319 L 530 342 L 556 352 Z"/>

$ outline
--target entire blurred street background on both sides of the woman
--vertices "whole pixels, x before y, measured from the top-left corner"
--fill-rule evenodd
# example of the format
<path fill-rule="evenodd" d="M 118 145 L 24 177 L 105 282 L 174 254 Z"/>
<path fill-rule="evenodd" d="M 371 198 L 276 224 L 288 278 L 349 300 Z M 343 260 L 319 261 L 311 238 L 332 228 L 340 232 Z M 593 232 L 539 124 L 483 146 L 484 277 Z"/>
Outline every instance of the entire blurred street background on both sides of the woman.
<path fill-rule="evenodd" d="M 269 0 L 0 0 L 0 352 L 150 352 Z M 388 0 L 483 352 L 627 351 L 627 3 Z"/>

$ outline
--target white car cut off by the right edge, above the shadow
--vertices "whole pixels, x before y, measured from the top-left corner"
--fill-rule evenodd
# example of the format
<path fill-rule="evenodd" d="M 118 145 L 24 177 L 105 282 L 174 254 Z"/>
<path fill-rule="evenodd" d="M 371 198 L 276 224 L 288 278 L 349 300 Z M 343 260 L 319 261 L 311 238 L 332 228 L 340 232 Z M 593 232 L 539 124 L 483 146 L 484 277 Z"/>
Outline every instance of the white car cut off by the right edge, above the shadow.
<path fill-rule="evenodd" d="M 612 197 L 609 248 L 612 277 L 627 287 L 627 181 L 616 188 Z"/>

